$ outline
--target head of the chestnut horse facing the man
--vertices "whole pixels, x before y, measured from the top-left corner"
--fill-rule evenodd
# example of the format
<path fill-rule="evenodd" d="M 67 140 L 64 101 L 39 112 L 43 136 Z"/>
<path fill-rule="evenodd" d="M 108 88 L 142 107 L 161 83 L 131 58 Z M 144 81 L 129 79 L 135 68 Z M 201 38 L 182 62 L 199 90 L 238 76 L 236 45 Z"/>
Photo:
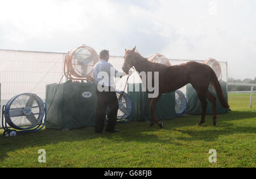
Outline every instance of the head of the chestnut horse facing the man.
<path fill-rule="evenodd" d="M 132 50 L 125 49 L 125 56 L 123 57 L 125 59 L 125 62 L 123 63 L 122 70 L 126 74 L 129 74 L 130 68 L 134 66 L 134 56 L 137 54 L 137 52 L 135 52 L 135 49 L 136 46 Z"/>

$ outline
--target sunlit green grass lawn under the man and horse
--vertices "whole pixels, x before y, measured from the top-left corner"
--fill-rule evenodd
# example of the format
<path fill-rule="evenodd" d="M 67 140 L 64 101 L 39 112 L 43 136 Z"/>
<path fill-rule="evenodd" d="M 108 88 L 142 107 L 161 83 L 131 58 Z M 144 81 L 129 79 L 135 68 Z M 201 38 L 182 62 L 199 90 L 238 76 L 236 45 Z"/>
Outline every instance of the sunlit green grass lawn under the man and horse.
<path fill-rule="evenodd" d="M 218 114 L 218 126 L 207 115 L 163 120 L 164 128 L 148 122 L 117 124 L 118 134 L 94 134 L 94 128 L 42 130 L 0 136 L 0 167 L 255 167 L 256 94 L 229 94 L 232 111 Z M 46 163 L 39 163 L 39 149 Z M 217 163 L 209 163 L 210 149 Z"/>

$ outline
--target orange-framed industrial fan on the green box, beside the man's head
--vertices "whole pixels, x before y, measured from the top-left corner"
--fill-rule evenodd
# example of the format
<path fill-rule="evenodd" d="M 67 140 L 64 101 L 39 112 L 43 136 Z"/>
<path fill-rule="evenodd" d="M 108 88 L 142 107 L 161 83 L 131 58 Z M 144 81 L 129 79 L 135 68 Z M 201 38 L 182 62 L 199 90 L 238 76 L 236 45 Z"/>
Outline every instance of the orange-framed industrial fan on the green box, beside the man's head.
<path fill-rule="evenodd" d="M 92 81 L 93 66 L 98 60 L 97 52 L 92 47 L 82 45 L 74 48 L 65 56 L 64 74 L 70 80 Z"/>

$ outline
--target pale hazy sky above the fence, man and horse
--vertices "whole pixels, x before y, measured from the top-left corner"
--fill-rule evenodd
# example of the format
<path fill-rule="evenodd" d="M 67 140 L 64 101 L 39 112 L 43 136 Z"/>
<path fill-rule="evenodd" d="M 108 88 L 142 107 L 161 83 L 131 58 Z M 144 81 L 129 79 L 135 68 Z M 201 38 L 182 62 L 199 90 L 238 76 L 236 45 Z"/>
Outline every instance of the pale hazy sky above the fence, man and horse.
<path fill-rule="evenodd" d="M 82 44 L 123 56 L 228 61 L 256 77 L 254 0 L 0 0 L 0 49 L 67 52 Z"/>

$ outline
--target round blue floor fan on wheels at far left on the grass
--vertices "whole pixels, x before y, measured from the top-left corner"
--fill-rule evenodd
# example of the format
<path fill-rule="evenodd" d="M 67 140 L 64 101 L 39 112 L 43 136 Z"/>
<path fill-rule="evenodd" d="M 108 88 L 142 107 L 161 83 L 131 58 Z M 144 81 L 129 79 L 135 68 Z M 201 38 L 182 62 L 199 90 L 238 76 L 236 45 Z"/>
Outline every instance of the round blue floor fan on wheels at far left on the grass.
<path fill-rule="evenodd" d="M 39 131 L 45 124 L 46 103 L 36 94 L 16 95 L 2 107 L 2 127 L 5 130 L 5 136 Z"/>

